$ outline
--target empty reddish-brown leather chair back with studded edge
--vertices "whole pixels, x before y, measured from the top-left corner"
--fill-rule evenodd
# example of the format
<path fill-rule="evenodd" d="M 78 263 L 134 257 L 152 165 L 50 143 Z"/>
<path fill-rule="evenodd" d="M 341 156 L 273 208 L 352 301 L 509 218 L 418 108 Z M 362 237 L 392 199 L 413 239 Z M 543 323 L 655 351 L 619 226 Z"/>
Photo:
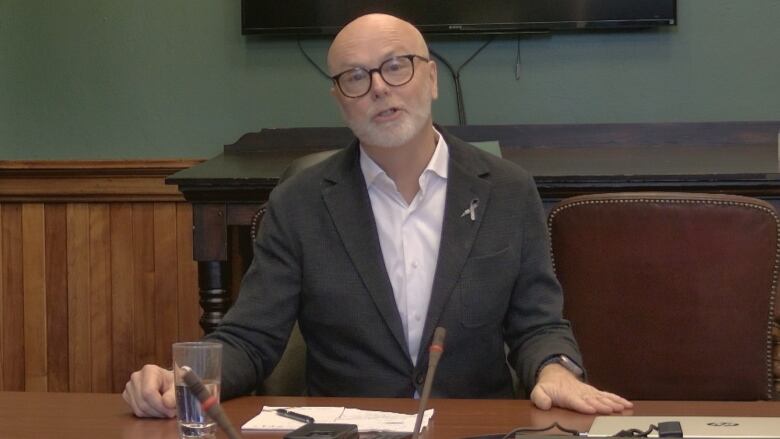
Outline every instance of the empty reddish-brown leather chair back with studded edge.
<path fill-rule="evenodd" d="M 548 226 L 564 315 L 591 383 L 631 399 L 772 399 L 778 218 L 770 204 L 597 194 L 563 200 Z"/>

